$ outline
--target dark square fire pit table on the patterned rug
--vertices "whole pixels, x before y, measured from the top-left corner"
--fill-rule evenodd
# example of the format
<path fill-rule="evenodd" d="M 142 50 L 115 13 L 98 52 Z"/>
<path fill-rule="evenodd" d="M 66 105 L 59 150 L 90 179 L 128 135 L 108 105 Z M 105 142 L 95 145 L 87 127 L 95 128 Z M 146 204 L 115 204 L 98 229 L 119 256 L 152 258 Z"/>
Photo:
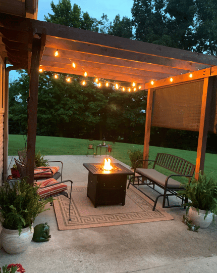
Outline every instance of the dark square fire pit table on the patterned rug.
<path fill-rule="evenodd" d="M 89 171 L 87 196 L 94 207 L 103 204 L 125 204 L 127 175 L 133 172 L 119 163 L 112 163 L 112 170 L 104 170 L 103 164 L 83 163 Z"/>

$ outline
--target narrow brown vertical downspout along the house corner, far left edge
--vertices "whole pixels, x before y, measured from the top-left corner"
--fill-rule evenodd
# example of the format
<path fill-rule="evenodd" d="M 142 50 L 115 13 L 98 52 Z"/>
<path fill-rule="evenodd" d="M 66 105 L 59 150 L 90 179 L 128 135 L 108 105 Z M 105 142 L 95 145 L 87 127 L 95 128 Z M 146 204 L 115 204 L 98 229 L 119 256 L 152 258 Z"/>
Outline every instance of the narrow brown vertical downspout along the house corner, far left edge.
<path fill-rule="evenodd" d="M 5 113 L 4 113 L 4 136 L 3 136 L 3 181 L 8 177 L 8 111 L 9 111 L 9 72 L 18 70 L 19 67 L 8 66 L 5 69 Z"/>

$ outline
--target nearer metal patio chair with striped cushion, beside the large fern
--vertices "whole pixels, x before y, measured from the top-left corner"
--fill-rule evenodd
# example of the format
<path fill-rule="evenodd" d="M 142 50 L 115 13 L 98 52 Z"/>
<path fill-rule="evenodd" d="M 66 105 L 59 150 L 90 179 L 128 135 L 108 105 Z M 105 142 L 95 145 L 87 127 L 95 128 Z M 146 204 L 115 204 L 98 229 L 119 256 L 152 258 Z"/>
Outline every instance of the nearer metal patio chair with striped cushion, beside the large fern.
<path fill-rule="evenodd" d="M 14 159 L 15 163 L 17 165 L 17 168 L 20 173 L 21 179 L 26 177 L 26 166 L 19 162 L 17 159 Z M 43 171 L 44 172 L 44 171 Z M 45 171 L 46 172 L 46 171 Z M 67 185 L 66 182 L 71 183 L 71 189 L 70 189 L 70 197 L 68 195 L 67 191 Z M 47 199 L 49 197 L 56 197 L 59 195 L 64 195 L 69 199 L 69 220 L 71 221 L 71 196 L 72 196 L 72 184 L 73 181 L 71 180 L 65 180 L 65 181 L 57 181 L 54 178 L 49 178 L 41 181 L 37 181 L 34 183 L 34 186 L 38 186 L 37 194 L 41 197 L 41 199 Z M 33 186 L 33 187 L 34 187 Z M 50 203 L 52 206 L 52 203 Z"/>

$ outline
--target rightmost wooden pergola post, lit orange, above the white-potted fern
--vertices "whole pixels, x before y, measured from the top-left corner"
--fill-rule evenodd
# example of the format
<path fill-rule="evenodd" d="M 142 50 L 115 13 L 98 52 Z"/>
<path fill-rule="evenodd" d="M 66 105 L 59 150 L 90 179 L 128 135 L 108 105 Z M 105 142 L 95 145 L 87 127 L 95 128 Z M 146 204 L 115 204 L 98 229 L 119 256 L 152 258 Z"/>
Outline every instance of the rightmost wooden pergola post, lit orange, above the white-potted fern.
<path fill-rule="evenodd" d="M 206 77 L 203 81 L 203 96 L 202 106 L 200 114 L 200 127 L 197 145 L 197 160 L 195 168 L 195 179 L 199 177 L 199 171 L 204 170 L 205 152 L 206 152 L 206 140 L 210 119 L 210 107 L 211 107 L 211 95 L 213 77 Z"/>

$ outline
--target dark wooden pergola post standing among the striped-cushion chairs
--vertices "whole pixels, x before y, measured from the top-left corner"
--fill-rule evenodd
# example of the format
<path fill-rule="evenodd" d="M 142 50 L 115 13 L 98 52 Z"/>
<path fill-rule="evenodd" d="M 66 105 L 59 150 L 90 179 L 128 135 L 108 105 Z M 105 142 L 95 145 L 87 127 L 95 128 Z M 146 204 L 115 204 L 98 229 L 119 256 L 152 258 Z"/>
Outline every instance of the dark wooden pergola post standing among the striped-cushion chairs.
<path fill-rule="evenodd" d="M 34 183 L 40 49 L 41 40 L 33 38 L 28 98 L 27 181 L 29 184 Z"/>

